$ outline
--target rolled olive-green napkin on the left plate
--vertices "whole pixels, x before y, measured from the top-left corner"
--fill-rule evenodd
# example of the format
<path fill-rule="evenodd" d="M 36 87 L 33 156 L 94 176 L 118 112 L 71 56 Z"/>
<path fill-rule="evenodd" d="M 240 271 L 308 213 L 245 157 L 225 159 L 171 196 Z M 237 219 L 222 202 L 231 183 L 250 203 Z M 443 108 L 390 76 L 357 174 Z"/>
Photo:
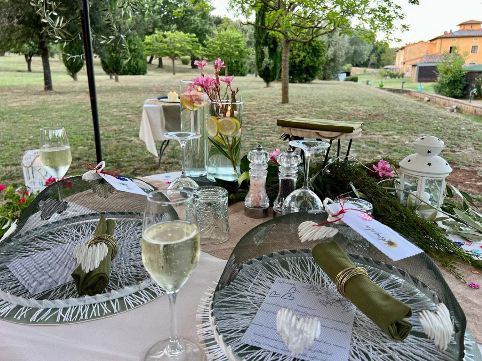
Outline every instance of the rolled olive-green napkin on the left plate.
<path fill-rule="evenodd" d="M 115 226 L 116 222 L 113 219 L 107 219 L 106 221 L 105 216 L 100 216 L 99 223 L 95 228 L 94 236 L 101 234 L 108 234 L 111 236 L 114 234 Z M 79 296 L 97 295 L 102 293 L 106 289 L 107 284 L 109 284 L 112 247 L 107 245 L 107 249 L 107 256 L 100 262 L 99 267 L 95 270 L 85 273 L 79 265 L 79 267 L 72 272 L 72 278 L 74 279 Z"/>

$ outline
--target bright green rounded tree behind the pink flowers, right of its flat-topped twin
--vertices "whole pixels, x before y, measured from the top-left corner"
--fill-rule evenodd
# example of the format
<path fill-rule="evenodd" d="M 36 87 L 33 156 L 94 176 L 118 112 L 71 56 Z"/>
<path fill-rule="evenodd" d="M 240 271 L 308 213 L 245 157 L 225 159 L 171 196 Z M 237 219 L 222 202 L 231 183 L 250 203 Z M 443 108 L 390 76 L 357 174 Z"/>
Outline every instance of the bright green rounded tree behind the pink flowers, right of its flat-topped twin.
<path fill-rule="evenodd" d="M 226 64 L 225 75 L 228 76 L 230 63 L 246 63 L 246 58 L 250 53 L 246 45 L 246 38 L 240 30 L 234 26 L 227 26 L 214 31 L 214 38 L 206 42 L 204 55 L 210 61 L 221 58 Z M 239 66 L 239 64 L 237 65 Z"/>

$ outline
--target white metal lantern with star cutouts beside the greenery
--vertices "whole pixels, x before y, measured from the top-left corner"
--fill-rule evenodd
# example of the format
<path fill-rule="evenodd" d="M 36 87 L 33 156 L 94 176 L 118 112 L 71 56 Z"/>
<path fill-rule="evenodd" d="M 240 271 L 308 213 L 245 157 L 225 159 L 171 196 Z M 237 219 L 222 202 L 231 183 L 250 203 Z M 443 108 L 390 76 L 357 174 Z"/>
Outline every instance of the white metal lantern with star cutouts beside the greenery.
<path fill-rule="evenodd" d="M 445 177 L 452 168 L 439 153 L 445 144 L 432 135 L 415 139 L 415 154 L 408 155 L 399 163 L 401 168 L 400 188 L 415 194 L 431 206 L 440 208 L 445 196 Z M 398 191 L 402 204 L 407 203 L 409 193 Z M 413 206 L 418 206 L 420 200 L 412 197 Z"/>

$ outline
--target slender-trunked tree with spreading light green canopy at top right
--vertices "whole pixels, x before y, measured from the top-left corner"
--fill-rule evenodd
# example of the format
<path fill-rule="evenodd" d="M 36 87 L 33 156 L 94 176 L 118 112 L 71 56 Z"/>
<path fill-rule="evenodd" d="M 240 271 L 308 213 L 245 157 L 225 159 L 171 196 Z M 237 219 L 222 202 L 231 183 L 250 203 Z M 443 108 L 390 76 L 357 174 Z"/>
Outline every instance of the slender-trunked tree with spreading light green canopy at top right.
<path fill-rule="evenodd" d="M 418 4 L 418 0 L 408 2 Z M 374 41 L 376 33 L 389 37 L 395 22 L 404 18 L 402 7 L 393 0 L 229 0 L 229 4 L 246 19 L 259 6 L 267 7 L 264 26 L 249 20 L 246 24 L 262 27 L 282 39 L 281 103 L 289 102 L 289 56 L 293 42 L 310 42 L 337 29 L 342 34 Z M 402 29 L 407 26 L 402 25 Z"/>

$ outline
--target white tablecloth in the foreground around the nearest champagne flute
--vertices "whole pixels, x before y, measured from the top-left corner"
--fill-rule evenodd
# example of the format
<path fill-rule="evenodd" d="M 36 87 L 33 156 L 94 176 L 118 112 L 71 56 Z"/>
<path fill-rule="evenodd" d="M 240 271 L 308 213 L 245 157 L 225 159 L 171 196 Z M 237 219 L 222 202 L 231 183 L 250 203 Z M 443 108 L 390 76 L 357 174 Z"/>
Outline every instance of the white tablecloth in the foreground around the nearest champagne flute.
<path fill-rule="evenodd" d="M 225 260 L 201 253 L 198 267 L 177 297 L 179 335 L 198 339 L 196 308 L 204 291 L 215 286 L 213 281 L 225 265 Z M 0 360 L 144 360 L 153 344 L 169 337 L 169 322 L 166 295 L 121 314 L 75 324 L 23 325 L 0 321 Z"/>

